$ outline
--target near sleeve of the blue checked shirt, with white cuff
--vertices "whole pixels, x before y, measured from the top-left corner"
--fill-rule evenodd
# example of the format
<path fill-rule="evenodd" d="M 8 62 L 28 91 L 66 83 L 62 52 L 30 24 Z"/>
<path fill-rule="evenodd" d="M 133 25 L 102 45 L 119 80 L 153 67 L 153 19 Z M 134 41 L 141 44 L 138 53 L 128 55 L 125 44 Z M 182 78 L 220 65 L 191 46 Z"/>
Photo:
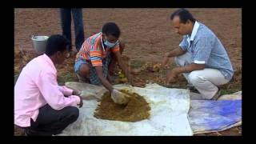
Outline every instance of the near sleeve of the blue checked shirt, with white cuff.
<path fill-rule="evenodd" d="M 194 46 L 193 61 L 197 64 L 206 64 L 210 58 L 210 52 L 213 48 L 209 38 L 199 38 Z"/>

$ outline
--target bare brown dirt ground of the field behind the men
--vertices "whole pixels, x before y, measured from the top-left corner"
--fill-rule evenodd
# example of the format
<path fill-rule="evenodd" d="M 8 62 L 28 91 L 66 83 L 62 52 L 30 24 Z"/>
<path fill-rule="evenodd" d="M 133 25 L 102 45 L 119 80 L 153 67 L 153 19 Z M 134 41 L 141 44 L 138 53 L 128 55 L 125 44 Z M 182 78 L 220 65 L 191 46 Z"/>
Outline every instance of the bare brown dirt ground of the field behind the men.
<path fill-rule="evenodd" d="M 126 44 L 123 55 L 130 58 L 131 66 L 142 67 L 162 61 L 162 55 L 178 47 L 182 36 L 174 32 L 170 23 L 170 14 L 176 9 L 83 9 L 85 37 L 99 32 L 105 22 L 116 22 L 121 29 L 122 41 Z M 224 86 L 226 90 L 241 90 L 242 82 L 242 10 L 241 9 L 188 9 L 199 22 L 214 31 L 226 47 L 234 66 L 235 77 L 231 84 Z M 14 10 L 14 50 L 32 51 L 30 40 L 32 35 L 62 34 L 58 9 L 15 9 Z M 72 23 L 74 45 L 74 26 Z M 17 55 L 14 68 L 20 71 Z M 170 62 L 174 65 L 173 60 Z M 20 63 L 19 63 L 20 64 Z M 74 62 L 71 59 L 60 75 L 74 78 L 72 73 Z M 144 70 L 138 75 L 141 82 L 162 83 L 165 72 L 149 73 Z M 180 77 L 178 86 L 185 86 L 184 78 Z M 228 91 L 227 93 L 229 93 Z M 231 91 L 232 92 L 232 91 Z M 15 127 L 15 134 L 20 131 Z M 196 135 L 242 135 L 241 126 L 219 133 Z"/>

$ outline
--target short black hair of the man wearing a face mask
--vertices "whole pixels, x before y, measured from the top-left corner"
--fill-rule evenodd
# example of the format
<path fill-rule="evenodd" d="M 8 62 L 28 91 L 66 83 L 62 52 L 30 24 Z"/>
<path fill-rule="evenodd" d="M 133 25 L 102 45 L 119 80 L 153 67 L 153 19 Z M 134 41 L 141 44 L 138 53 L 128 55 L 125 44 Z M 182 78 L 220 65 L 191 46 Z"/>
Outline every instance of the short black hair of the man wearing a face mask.
<path fill-rule="evenodd" d="M 117 24 L 115 24 L 114 22 L 107 22 L 106 24 L 104 24 L 104 26 L 102 27 L 102 33 L 106 34 L 106 35 L 113 35 L 116 38 L 119 38 L 121 31 L 118 27 Z"/>

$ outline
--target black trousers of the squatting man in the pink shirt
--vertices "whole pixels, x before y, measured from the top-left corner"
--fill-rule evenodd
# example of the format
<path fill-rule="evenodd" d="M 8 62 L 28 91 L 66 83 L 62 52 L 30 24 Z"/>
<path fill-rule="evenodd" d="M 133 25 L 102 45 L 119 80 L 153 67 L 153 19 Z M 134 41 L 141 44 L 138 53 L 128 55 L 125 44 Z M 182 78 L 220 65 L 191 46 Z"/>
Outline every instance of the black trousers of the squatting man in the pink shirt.
<path fill-rule="evenodd" d="M 62 130 L 78 119 L 79 110 L 74 106 L 67 106 L 62 110 L 54 110 L 48 104 L 39 109 L 37 120 L 30 119 L 30 127 L 25 127 L 29 136 L 51 136 L 61 134 Z"/>

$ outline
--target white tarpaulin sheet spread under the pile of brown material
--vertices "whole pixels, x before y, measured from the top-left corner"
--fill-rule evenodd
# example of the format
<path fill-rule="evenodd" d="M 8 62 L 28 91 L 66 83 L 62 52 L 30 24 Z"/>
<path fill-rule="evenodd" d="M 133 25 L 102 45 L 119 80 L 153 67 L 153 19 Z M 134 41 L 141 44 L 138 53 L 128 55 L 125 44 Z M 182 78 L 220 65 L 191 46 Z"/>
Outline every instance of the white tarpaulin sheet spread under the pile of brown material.
<path fill-rule="evenodd" d="M 190 95 L 188 90 L 170 89 L 157 84 L 134 87 L 150 104 L 150 118 L 139 122 L 120 122 L 94 118 L 94 110 L 106 91 L 102 86 L 66 82 L 74 90 L 82 90 L 83 106 L 78 120 L 60 135 L 193 135 L 188 120 Z M 118 89 L 130 86 L 116 85 Z"/>

